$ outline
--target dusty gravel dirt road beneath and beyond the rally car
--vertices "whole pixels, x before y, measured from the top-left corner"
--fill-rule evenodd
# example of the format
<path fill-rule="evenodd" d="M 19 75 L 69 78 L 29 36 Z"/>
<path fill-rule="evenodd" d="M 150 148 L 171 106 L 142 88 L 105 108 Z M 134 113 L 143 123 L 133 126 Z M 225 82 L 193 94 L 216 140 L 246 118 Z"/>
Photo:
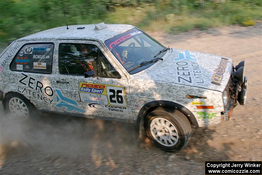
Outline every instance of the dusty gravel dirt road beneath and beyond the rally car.
<path fill-rule="evenodd" d="M 149 32 L 166 46 L 246 62 L 248 97 L 228 122 L 194 129 L 180 152 L 138 146 L 132 124 L 46 115 L 20 122 L 1 108 L 1 174 L 204 174 L 208 160 L 261 160 L 261 23 L 180 35 Z M 2 107 L 2 106 L 1 106 Z"/>

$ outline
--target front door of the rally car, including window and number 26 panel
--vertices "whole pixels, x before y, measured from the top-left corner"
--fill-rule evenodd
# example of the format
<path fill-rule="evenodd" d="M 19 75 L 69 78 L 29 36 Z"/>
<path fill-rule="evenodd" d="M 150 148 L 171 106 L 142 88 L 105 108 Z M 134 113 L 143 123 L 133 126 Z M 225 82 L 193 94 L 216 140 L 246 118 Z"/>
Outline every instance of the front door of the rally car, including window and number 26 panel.
<path fill-rule="evenodd" d="M 117 72 L 103 51 L 94 41 L 60 41 L 57 107 L 89 117 L 133 119 L 127 78 Z"/>

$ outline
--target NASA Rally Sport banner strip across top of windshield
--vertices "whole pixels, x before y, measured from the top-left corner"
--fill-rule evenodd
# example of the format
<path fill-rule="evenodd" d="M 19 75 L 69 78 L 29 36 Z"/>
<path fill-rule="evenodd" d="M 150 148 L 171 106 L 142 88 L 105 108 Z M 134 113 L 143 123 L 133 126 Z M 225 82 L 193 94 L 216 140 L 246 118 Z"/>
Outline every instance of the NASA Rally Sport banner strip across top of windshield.
<path fill-rule="evenodd" d="M 137 35 L 141 35 L 143 32 L 134 28 L 122 34 L 119 34 L 113 38 L 106 40 L 104 43 L 109 48 L 109 50 L 113 50 L 116 46 L 120 45 L 123 41 L 129 40 Z"/>

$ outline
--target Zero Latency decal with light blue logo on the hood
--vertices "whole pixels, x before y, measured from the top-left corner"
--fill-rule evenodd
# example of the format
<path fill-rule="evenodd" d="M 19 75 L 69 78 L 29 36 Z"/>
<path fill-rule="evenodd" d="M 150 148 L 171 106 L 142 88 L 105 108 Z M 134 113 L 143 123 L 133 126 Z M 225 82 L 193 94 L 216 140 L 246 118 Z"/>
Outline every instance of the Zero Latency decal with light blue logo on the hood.
<path fill-rule="evenodd" d="M 197 57 L 189 51 L 178 53 L 174 59 L 179 83 L 204 83 L 202 70 L 197 62 Z"/>

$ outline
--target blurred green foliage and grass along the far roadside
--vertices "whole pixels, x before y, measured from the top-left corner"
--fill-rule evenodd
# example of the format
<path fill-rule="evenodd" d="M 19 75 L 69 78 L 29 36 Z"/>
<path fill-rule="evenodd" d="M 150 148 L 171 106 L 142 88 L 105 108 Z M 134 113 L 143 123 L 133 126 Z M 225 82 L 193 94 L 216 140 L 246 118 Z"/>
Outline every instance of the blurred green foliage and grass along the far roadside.
<path fill-rule="evenodd" d="M 191 29 L 261 20 L 261 0 L 64 0 L 68 25 L 127 23 L 145 30 Z M 0 1 L 0 42 L 65 26 L 61 0 Z"/>

